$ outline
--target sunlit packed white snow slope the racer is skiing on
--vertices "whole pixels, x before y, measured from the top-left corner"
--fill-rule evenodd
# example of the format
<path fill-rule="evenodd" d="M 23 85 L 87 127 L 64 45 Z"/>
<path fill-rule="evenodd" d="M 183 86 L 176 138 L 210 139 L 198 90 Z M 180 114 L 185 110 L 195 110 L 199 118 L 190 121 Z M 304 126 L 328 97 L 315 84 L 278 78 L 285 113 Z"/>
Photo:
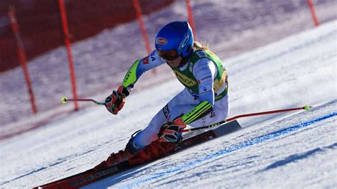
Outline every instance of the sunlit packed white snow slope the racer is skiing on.
<path fill-rule="evenodd" d="M 224 61 L 230 117 L 305 104 L 310 111 L 240 119 L 240 131 L 85 188 L 336 187 L 336 24 Z M 0 141 L 0 187 L 33 187 L 96 166 L 182 89 L 169 80 L 132 93 L 117 116 L 90 107 Z"/>

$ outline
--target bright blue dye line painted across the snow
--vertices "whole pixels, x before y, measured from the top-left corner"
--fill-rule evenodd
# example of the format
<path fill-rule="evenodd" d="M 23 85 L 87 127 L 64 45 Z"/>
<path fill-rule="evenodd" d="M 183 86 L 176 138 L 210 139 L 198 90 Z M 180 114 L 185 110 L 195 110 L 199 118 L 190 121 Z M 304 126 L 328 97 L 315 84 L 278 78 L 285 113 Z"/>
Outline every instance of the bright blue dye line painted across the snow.
<path fill-rule="evenodd" d="M 328 118 L 331 118 L 331 117 L 335 117 L 336 115 L 337 115 L 337 112 L 332 112 L 331 114 L 326 114 L 326 115 L 324 115 L 322 117 L 318 117 L 316 119 L 311 119 L 311 120 L 306 121 L 304 123 L 296 124 L 294 126 L 290 126 L 290 127 L 286 128 L 286 129 L 281 129 L 279 131 L 274 131 L 274 132 L 272 132 L 270 134 L 266 134 L 264 136 L 257 137 L 255 139 L 250 140 L 250 141 L 245 141 L 242 144 L 238 144 L 236 146 L 225 148 L 223 150 L 220 150 L 220 151 L 218 151 L 216 153 L 212 153 L 212 154 L 210 154 L 208 156 L 205 156 L 203 158 L 198 158 L 195 161 L 191 161 L 189 163 L 185 163 L 183 166 L 178 166 L 176 168 L 171 168 L 171 169 L 169 169 L 167 171 L 163 171 L 161 173 L 156 173 L 154 175 L 149 175 L 149 177 L 147 177 L 147 178 L 141 178 L 139 180 L 136 180 L 133 183 L 129 183 L 129 184 L 121 186 L 119 188 L 133 188 L 133 187 L 135 187 L 135 186 L 137 186 L 137 185 L 139 185 L 141 183 L 145 183 L 147 181 L 151 181 L 151 180 L 154 180 L 156 178 L 160 178 L 160 177 L 163 177 L 165 175 L 169 175 L 171 173 L 175 173 L 175 172 L 181 171 L 183 168 L 188 168 L 188 167 L 191 167 L 191 166 L 195 166 L 196 164 L 202 163 L 203 161 L 208 161 L 210 159 L 217 158 L 218 156 L 224 155 L 226 153 L 230 153 L 232 151 L 240 150 L 241 148 L 246 148 L 248 146 L 252 146 L 252 145 L 255 145 L 255 144 L 260 144 L 260 143 L 262 143 L 264 141 L 269 141 L 271 139 L 275 139 L 275 138 L 277 138 L 279 136 L 283 136 L 285 134 L 289 134 L 291 132 L 294 132 L 296 130 L 299 130 L 301 128 L 309 126 L 311 124 L 316 124 L 319 121 L 323 121 L 325 119 L 328 119 Z"/>

